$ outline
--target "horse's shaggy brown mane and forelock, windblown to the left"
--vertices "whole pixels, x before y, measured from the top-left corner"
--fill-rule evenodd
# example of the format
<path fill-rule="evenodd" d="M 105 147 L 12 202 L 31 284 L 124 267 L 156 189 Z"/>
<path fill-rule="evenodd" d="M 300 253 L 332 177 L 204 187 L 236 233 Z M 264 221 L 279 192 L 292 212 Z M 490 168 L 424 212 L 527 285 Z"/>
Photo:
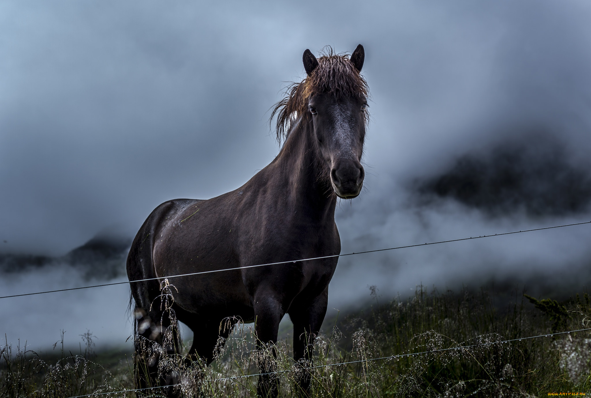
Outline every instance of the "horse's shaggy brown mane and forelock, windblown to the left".
<path fill-rule="evenodd" d="M 335 98 L 369 96 L 368 84 L 349 60 L 349 54 L 335 54 L 330 46 L 322 51 L 318 66 L 300 83 L 291 83 L 285 89 L 285 98 L 277 102 L 270 121 L 277 115 L 277 141 L 287 138 L 298 117 L 309 118 L 308 100 L 315 94 L 328 94 Z M 369 114 L 365 112 L 365 122 Z"/>

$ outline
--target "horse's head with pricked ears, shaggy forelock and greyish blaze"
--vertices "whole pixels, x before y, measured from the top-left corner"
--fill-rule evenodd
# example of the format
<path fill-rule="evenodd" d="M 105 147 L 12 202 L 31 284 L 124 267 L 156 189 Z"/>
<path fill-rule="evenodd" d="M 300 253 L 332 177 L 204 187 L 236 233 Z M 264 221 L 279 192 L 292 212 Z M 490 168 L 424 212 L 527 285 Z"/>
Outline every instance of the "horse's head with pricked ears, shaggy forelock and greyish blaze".
<path fill-rule="evenodd" d="M 351 56 L 328 54 L 316 59 L 304 51 L 307 77 L 277 104 L 278 137 L 290 125 L 308 125 L 326 163 L 327 178 L 339 198 L 359 195 L 365 172 L 361 165 L 368 87 L 360 75 L 365 53 L 359 44 Z"/>

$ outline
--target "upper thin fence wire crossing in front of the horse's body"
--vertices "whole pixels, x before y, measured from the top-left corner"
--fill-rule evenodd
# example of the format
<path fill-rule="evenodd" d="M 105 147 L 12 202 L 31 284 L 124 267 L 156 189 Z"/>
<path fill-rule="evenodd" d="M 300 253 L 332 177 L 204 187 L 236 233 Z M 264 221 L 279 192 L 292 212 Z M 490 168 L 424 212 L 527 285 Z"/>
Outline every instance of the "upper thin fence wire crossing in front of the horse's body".
<path fill-rule="evenodd" d="M 172 279 L 172 278 L 178 278 L 178 277 L 181 277 L 181 276 L 195 276 L 195 275 L 211 274 L 211 273 L 215 273 L 215 272 L 242 270 L 242 269 L 245 269 L 245 268 L 276 266 L 278 264 L 297 263 L 298 261 L 322 260 L 323 258 L 345 257 L 347 255 L 366 254 L 366 253 L 377 253 L 378 251 L 398 250 L 398 249 L 405 249 L 405 248 L 411 248 L 411 247 L 437 245 L 437 244 L 441 244 L 441 243 L 467 241 L 467 240 L 479 239 L 479 238 L 501 237 L 503 235 L 520 234 L 522 232 L 543 231 L 544 229 L 562 228 L 564 226 L 574 226 L 574 225 L 583 225 L 583 224 L 591 224 L 591 221 L 575 222 L 573 224 L 544 226 L 543 228 L 524 229 L 522 231 L 502 232 L 501 234 L 494 234 L 494 235 L 480 235 L 478 237 L 459 238 L 459 239 L 451 239 L 451 240 L 446 240 L 446 241 L 427 242 L 427 243 L 421 243 L 421 244 L 415 244 L 415 245 L 406 245 L 406 246 L 398 246 L 398 247 L 388 247 L 388 248 L 384 248 L 384 249 L 358 251 L 356 253 L 353 252 L 353 253 L 346 253 L 346 254 L 323 255 L 323 256 L 320 256 L 320 257 L 301 258 L 300 260 L 277 261 L 276 263 L 256 264 L 254 266 L 223 268 L 221 270 L 200 271 L 200 272 L 193 272 L 193 273 L 189 273 L 189 274 L 162 276 L 162 277 L 147 278 L 147 279 L 138 279 L 138 280 L 124 281 L 124 282 L 103 283 L 103 284 L 95 284 L 95 285 L 92 285 L 92 286 L 69 287 L 67 289 L 46 290 L 44 292 L 21 293 L 20 295 L 0 296 L 0 299 L 8 299 L 10 297 L 22 297 L 22 296 L 43 295 L 45 293 L 69 292 L 70 290 L 90 289 L 92 287 L 103 287 L 103 286 L 115 286 L 115 285 L 118 285 L 118 284 L 128 284 L 128 283 L 134 283 L 134 282 L 145 282 L 145 281 L 150 281 L 150 280 Z"/>

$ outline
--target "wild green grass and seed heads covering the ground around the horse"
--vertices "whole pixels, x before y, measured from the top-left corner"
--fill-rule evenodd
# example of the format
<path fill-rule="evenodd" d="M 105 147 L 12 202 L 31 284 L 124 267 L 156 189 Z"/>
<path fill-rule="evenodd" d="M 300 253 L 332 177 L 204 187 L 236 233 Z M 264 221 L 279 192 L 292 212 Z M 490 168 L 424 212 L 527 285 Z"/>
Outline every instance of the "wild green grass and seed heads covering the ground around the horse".
<path fill-rule="evenodd" d="M 591 333 L 559 334 L 591 327 L 587 295 L 557 302 L 514 292 L 501 305 L 485 289 L 440 293 L 420 287 L 410 299 L 382 304 L 375 293 L 366 310 L 341 315 L 317 339 L 312 397 L 546 397 L 591 390 Z M 501 342 L 508 339 L 515 341 Z M 181 375 L 181 396 L 255 396 L 258 377 L 236 378 L 258 373 L 261 357 L 253 341 L 251 327 L 243 325 L 209 367 L 165 355 L 162 371 Z M 298 393 L 294 380 L 301 364 L 290 358 L 289 341 L 274 348 L 280 396 Z M 0 396 L 70 397 L 134 388 L 131 358 L 95 357 L 91 335 L 85 343 L 79 355 L 62 350 L 53 360 L 3 346 Z M 420 354 L 405 355 L 411 353 Z M 404 356 L 371 360 L 392 355 Z M 350 361 L 358 362 L 341 364 Z M 146 395 L 160 396 L 158 389 Z"/>

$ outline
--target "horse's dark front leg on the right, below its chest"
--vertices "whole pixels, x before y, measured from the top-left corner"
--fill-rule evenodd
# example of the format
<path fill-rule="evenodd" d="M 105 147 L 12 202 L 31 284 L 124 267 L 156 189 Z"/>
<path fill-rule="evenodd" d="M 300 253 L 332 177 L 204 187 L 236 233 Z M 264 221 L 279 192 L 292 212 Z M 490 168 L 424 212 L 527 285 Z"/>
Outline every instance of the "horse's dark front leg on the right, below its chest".
<path fill-rule="evenodd" d="M 309 396 L 311 373 L 306 370 L 312 364 L 314 339 L 320 331 L 320 326 L 326 315 L 328 290 L 311 301 L 294 302 L 289 311 L 291 322 L 294 324 L 294 360 L 304 367 L 296 380 L 296 393 Z"/>

